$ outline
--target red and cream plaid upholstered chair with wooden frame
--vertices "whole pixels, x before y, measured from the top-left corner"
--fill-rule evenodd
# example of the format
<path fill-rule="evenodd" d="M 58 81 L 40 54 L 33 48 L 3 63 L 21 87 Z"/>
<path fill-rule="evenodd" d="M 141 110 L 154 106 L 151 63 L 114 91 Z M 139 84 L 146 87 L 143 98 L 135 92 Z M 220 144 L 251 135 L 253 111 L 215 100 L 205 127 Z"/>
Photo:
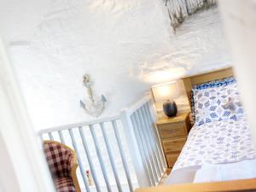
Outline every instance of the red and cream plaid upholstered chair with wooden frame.
<path fill-rule="evenodd" d="M 76 175 L 77 156 L 72 148 L 44 141 L 44 154 L 57 192 L 81 192 Z"/>

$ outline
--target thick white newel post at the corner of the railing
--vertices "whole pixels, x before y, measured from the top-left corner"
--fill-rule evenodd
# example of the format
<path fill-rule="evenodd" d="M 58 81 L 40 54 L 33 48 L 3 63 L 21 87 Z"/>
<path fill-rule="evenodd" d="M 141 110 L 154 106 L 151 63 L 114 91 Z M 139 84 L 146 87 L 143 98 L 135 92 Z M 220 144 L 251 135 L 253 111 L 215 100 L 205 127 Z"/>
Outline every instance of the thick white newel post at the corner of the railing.
<path fill-rule="evenodd" d="M 131 154 L 131 160 L 137 175 L 139 187 L 148 187 L 150 182 L 147 177 L 147 171 L 143 167 L 143 158 L 140 154 L 136 135 L 131 123 L 131 116 L 129 110 L 125 109 L 120 113 L 122 125 L 124 126 L 125 136 L 127 138 L 127 145 Z"/>

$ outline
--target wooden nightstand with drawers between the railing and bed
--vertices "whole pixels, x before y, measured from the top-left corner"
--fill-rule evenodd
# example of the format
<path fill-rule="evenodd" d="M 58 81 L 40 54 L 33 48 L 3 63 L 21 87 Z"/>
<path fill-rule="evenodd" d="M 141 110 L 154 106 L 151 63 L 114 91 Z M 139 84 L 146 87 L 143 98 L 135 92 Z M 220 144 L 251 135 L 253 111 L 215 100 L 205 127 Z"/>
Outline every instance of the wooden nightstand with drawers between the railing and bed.
<path fill-rule="evenodd" d="M 191 129 L 189 113 L 159 119 L 156 123 L 168 168 L 174 166 Z"/>

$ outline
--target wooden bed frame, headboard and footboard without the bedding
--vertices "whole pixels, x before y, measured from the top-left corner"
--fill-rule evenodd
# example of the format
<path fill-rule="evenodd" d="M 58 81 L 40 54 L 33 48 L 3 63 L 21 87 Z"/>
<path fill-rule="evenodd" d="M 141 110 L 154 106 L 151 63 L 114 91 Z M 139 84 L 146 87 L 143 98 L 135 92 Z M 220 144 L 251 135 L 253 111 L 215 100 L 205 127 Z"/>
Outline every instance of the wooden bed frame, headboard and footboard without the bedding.
<path fill-rule="evenodd" d="M 183 78 L 183 84 L 190 103 L 190 94 L 192 86 L 216 79 L 224 79 L 234 76 L 232 67 L 224 68 L 210 73 L 201 73 L 194 76 Z M 256 168 L 256 167 L 255 167 Z M 255 191 L 256 178 L 242 179 L 227 182 L 214 183 L 185 183 L 165 185 L 159 187 L 151 187 L 137 189 L 136 192 L 237 192 L 237 191 Z"/>

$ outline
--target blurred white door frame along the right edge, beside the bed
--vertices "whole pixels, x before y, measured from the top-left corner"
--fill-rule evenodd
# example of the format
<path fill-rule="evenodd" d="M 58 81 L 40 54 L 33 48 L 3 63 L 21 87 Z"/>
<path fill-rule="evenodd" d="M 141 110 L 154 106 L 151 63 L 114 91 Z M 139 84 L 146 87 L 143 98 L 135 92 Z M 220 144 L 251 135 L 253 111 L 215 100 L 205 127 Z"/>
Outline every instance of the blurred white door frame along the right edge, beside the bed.
<path fill-rule="evenodd" d="M 224 32 L 256 146 L 256 1 L 220 0 Z"/>

